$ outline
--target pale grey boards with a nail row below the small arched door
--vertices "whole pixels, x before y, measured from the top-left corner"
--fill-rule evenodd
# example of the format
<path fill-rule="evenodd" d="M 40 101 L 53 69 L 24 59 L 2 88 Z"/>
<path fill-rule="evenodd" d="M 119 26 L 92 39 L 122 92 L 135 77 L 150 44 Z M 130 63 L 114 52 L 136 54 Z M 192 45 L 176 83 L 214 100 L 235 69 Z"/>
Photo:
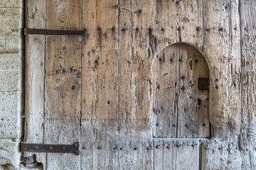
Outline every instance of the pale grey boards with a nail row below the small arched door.
<path fill-rule="evenodd" d="M 154 141 L 154 169 L 199 169 L 201 141 L 165 139 Z"/>

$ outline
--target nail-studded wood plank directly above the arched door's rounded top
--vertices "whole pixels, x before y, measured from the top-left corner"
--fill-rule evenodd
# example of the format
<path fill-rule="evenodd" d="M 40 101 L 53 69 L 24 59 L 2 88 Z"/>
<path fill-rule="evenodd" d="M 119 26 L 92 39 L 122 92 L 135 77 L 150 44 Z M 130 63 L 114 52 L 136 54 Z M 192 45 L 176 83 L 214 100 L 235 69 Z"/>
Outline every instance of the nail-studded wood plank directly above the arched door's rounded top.
<path fill-rule="evenodd" d="M 203 45 L 203 0 L 157 1 L 157 50 L 174 42 Z"/>

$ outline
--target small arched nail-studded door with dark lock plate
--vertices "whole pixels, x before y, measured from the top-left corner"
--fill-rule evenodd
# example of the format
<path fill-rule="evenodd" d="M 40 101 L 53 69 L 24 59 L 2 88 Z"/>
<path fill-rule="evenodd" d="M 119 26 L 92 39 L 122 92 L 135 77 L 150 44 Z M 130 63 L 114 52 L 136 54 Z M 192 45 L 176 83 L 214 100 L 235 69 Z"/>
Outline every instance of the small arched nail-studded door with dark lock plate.
<path fill-rule="evenodd" d="M 209 69 L 201 52 L 178 43 L 157 58 L 154 137 L 210 137 Z"/>

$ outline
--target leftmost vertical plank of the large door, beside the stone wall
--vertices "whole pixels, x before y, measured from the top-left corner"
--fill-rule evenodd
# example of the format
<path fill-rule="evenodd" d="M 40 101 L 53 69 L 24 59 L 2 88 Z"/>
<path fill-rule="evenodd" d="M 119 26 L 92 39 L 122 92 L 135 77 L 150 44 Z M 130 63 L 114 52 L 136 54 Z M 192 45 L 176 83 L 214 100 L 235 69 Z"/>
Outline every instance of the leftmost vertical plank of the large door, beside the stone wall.
<path fill-rule="evenodd" d="M 26 28 L 46 28 L 46 1 L 26 1 Z M 44 35 L 26 35 L 25 42 L 25 127 L 24 142 L 43 143 L 44 140 Z M 46 153 L 36 154 L 37 162 L 46 169 Z"/>

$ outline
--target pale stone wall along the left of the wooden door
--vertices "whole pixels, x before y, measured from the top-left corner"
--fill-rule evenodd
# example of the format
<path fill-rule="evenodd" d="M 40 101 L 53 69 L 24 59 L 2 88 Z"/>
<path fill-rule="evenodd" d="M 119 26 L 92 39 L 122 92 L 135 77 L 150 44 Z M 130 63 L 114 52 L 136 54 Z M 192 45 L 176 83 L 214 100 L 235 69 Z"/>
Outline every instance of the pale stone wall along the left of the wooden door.
<path fill-rule="evenodd" d="M 0 169 L 17 169 L 23 122 L 21 0 L 0 0 Z"/>

